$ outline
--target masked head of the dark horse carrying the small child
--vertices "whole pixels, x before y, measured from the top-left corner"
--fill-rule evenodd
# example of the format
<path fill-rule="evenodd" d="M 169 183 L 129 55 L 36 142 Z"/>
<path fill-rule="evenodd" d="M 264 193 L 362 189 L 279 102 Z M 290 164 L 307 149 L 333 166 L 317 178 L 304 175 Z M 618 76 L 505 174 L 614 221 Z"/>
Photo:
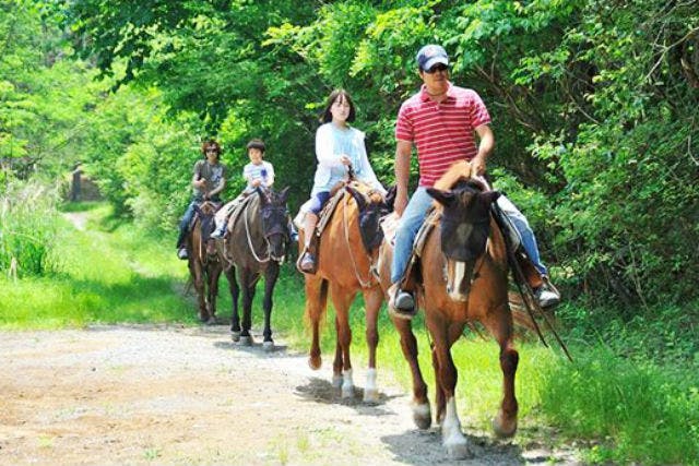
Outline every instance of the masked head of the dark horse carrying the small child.
<path fill-rule="evenodd" d="M 288 210 L 286 198 L 288 187 L 280 192 L 258 187 L 260 195 L 260 217 L 262 218 L 262 234 L 268 242 L 270 258 L 281 261 L 286 255 L 288 244 Z"/>

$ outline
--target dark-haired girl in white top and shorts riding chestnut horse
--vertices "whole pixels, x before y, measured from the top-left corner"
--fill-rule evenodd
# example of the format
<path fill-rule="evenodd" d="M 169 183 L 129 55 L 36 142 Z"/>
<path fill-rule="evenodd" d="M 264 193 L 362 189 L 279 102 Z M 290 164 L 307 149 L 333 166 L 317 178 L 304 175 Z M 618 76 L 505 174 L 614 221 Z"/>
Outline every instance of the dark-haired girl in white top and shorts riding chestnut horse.
<path fill-rule="evenodd" d="M 320 119 L 323 123 L 316 132 L 316 157 L 318 166 L 313 178 L 311 199 L 304 204 L 304 235 L 306 250 L 310 244 L 312 231 L 318 223 L 318 214 L 330 198 L 330 190 L 340 181 L 346 180 L 350 166 L 355 177 L 386 194 L 369 164 L 364 145 L 365 134 L 350 127 L 355 120 L 352 97 L 344 89 L 335 89 L 328 97 L 325 110 Z M 308 272 L 315 268 L 316 259 L 308 251 L 301 258 L 299 266 Z"/>

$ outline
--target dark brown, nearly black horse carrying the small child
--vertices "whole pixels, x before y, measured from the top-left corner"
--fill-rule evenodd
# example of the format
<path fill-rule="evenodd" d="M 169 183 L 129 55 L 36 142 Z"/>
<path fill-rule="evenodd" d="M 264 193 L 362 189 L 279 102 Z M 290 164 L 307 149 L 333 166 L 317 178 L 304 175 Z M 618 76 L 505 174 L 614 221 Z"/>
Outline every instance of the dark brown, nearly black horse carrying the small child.
<path fill-rule="evenodd" d="M 224 240 L 226 277 L 233 300 L 233 318 L 230 334 L 234 342 L 249 345 L 252 343 L 250 327 L 252 325 L 252 298 L 258 280 L 264 276 L 264 342 L 263 347 L 271 350 L 272 339 L 272 294 L 280 275 L 280 262 L 284 260 L 288 249 L 288 214 L 286 196 L 288 188 L 281 192 L 258 188 L 244 201 L 239 214 L 234 213 L 228 224 L 228 232 Z M 242 326 L 238 313 L 238 296 L 242 286 Z"/>

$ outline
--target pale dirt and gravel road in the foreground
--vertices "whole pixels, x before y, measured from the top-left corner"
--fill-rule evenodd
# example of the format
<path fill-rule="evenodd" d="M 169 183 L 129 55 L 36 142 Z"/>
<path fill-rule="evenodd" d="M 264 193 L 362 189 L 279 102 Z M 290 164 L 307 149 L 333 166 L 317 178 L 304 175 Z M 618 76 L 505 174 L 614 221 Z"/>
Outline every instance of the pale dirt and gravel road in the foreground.
<path fill-rule="evenodd" d="M 226 326 L 104 326 L 0 333 L 0 464 L 517 465 L 570 455 L 470 437 L 452 462 L 437 428 L 418 431 L 410 395 L 362 403 L 283 342 L 234 345 Z"/>

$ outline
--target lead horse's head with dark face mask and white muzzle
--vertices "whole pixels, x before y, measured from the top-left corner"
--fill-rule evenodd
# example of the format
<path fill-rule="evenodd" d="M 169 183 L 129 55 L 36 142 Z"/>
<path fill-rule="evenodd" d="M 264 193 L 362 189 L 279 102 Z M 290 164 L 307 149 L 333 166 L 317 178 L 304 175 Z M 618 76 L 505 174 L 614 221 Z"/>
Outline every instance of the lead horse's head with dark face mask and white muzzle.
<path fill-rule="evenodd" d="M 449 191 L 428 188 L 427 193 L 443 206 L 441 250 L 447 258 L 447 292 L 454 301 L 466 301 L 477 278 L 490 235 L 490 204 L 500 195 L 483 192 L 473 180 L 459 181 Z"/>

